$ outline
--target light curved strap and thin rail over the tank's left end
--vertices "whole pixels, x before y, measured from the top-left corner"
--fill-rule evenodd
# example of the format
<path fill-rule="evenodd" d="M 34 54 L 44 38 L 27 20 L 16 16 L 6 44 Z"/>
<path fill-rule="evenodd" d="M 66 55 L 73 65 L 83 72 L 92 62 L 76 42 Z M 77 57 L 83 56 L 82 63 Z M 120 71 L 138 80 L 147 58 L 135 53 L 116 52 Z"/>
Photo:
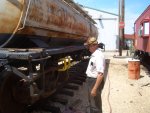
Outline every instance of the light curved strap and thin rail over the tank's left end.
<path fill-rule="evenodd" d="M 29 6 L 30 6 L 30 2 L 31 2 L 31 0 L 30 0 L 29 3 L 28 3 L 28 9 L 29 9 Z M 19 18 L 19 21 L 18 21 L 18 24 L 17 24 L 15 30 L 13 31 L 13 33 L 11 34 L 11 36 L 9 37 L 9 39 L 8 39 L 4 44 L 2 44 L 0 47 L 6 46 L 6 45 L 8 44 L 8 42 L 14 37 L 14 35 L 16 34 L 16 32 L 17 32 L 18 30 L 21 30 L 22 28 L 24 28 L 24 26 L 25 26 L 25 21 L 26 21 L 26 17 L 27 17 L 27 13 L 28 13 L 28 9 L 27 9 L 27 12 L 26 12 L 25 20 L 24 20 L 24 25 L 23 25 L 22 28 L 19 28 L 20 23 L 21 23 L 21 20 L 22 20 L 22 17 L 23 17 L 23 9 L 24 9 L 24 7 L 25 7 L 24 4 L 25 4 L 25 0 L 23 0 L 23 8 L 22 8 L 21 15 L 20 15 L 20 18 Z"/>

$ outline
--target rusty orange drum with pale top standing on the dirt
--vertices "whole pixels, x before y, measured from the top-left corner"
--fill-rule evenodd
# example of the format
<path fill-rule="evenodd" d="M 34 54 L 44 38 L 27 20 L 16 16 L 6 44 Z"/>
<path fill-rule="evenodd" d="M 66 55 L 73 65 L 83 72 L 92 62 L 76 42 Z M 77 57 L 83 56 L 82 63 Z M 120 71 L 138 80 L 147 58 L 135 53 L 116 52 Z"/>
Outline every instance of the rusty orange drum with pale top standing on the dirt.
<path fill-rule="evenodd" d="M 128 78 L 129 79 L 140 78 L 140 60 L 131 59 L 128 61 Z"/>

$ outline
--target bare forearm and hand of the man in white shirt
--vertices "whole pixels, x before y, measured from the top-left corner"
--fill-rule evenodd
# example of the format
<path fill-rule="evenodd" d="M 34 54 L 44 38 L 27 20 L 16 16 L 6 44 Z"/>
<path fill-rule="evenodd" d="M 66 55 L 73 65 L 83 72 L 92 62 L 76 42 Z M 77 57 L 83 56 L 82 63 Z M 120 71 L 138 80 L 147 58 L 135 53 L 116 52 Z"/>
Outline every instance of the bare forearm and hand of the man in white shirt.
<path fill-rule="evenodd" d="M 98 73 L 97 75 L 97 79 L 96 79 L 96 82 L 91 90 L 91 95 L 92 96 L 96 96 L 97 95 L 97 89 L 99 88 L 101 82 L 103 80 L 103 73 Z"/>

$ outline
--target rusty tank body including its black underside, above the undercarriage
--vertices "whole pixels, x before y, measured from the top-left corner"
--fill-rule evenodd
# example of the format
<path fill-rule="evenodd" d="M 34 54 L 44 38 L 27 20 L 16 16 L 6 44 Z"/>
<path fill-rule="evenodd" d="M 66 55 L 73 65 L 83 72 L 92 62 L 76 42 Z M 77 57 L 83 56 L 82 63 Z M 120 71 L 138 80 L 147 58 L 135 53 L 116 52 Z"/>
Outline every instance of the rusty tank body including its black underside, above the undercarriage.
<path fill-rule="evenodd" d="M 94 21 L 71 0 L 1 0 L 0 6 L 1 47 L 26 47 L 24 41 L 38 46 L 35 40 L 69 45 L 97 37 Z"/>

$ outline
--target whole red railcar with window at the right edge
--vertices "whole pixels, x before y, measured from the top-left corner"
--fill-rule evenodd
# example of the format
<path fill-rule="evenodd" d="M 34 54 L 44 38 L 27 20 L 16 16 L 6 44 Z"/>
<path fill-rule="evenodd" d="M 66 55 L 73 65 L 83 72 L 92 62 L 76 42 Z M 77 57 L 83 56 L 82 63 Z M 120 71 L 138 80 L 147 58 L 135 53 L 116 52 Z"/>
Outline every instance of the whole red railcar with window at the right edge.
<path fill-rule="evenodd" d="M 150 5 L 135 21 L 136 56 L 150 63 Z"/>

